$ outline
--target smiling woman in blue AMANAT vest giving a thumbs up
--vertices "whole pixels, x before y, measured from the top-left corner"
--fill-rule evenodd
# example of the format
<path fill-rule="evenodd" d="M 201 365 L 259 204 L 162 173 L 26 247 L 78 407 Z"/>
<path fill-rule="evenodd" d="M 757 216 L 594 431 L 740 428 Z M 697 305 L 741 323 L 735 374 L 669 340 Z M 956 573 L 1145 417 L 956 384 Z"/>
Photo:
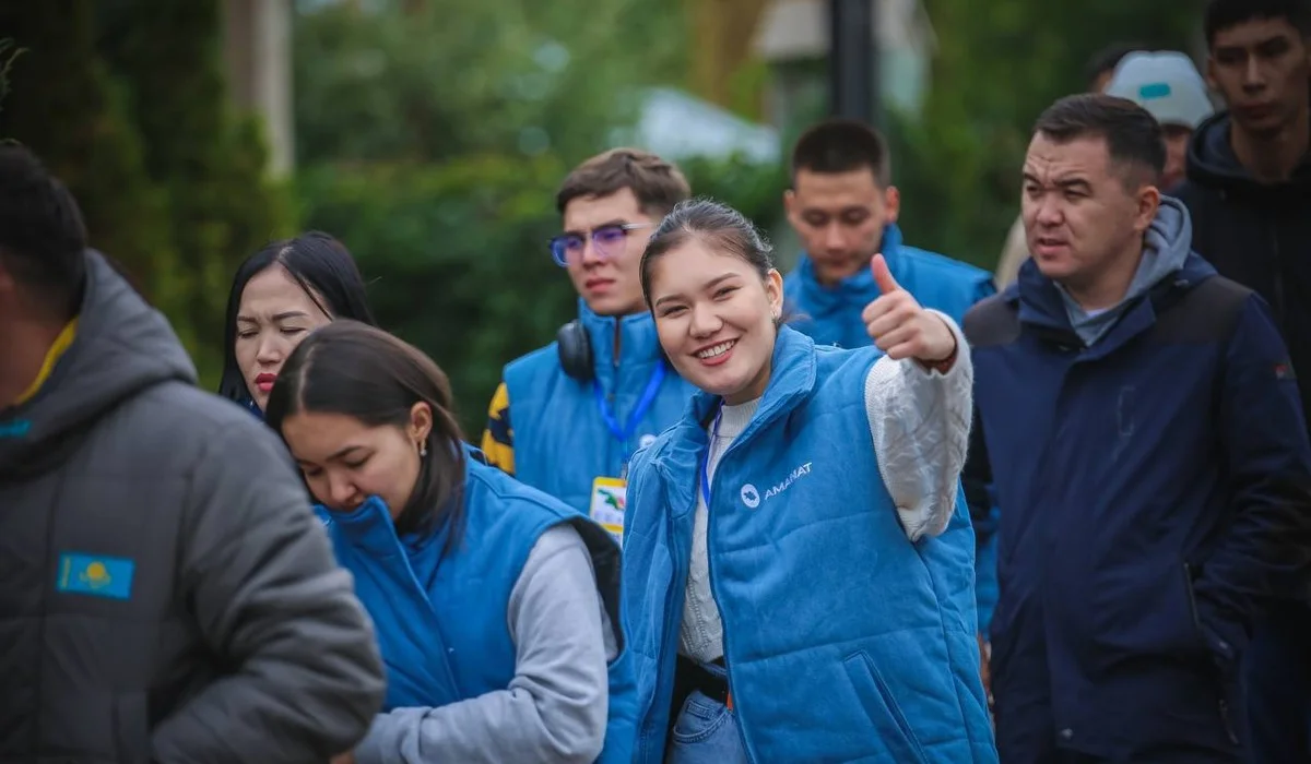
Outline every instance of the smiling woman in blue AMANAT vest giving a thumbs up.
<path fill-rule="evenodd" d="M 676 207 L 641 280 L 700 392 L 629 472 L 638 764 L 995 763 L 960 470 L 969 347 L 871 263 L 876 347 L 781 324 L 741 214 Z"/>

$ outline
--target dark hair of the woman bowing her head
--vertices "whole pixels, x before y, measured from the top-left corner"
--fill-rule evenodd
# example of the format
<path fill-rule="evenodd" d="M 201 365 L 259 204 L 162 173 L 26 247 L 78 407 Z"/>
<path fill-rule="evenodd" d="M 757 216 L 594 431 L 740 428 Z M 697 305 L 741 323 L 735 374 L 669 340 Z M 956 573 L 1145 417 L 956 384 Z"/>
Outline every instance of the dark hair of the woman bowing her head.
<path fill-rule="evenodd" d="M 287 417 L 313 411 L 353 417 L 367 427 L 404 429 L 420 402 L 433 410 L 433 430 L 409 503 L 396 518 L 396 532 L 450 523 L 450 550 L 464 522 L 464 435 L 451 383 L 422 351 L 375 326 L 333 321 L 312 332 L 287 358 L 269 396 L 266 422 L 282 434 Z"/>

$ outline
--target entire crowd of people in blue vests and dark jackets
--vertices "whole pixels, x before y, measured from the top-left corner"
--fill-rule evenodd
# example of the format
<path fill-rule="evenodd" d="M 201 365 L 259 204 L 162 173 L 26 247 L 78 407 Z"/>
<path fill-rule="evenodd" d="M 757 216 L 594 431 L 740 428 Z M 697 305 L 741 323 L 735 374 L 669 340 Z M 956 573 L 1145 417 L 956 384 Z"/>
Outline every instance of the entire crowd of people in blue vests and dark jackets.
<path fill-rule="evenodd" d="M 860 122 L 793 147 L 785 277 L 589 159 L 481 434 L 323 232 L 199 391 L 0 147 L 0 760 L 1311 761 L 1311 5 L 1205 34 L 1037 118 L 996 274 Z"/>

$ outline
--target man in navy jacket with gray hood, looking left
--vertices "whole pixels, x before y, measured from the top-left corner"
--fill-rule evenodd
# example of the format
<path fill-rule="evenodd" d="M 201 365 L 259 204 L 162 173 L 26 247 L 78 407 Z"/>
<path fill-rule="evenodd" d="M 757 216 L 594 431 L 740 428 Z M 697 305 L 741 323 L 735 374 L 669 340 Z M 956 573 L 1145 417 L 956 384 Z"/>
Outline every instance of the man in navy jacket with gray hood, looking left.
<path fill-rule="evenodd" d="M 1013 764 L 1239 761 L 1238 662 L 1304 577 L 1311 447 L 1264 300 L 1190 252 L 1160 126 L 1071 96 L 1024 165 L 1033 253 L 965 320 L 995 482 L 998 748 Z M 1304 586 L 1304 583 L 1303 583 Z"/>

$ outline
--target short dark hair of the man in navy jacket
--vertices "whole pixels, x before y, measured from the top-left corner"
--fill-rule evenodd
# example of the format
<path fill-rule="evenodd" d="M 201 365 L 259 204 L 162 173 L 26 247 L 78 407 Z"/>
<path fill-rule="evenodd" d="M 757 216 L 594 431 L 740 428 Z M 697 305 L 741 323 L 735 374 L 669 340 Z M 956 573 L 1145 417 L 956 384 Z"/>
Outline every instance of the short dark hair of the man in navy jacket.
<path fill-rule="evenodd" d="M 1152 182 L 1158 182 L 1165 169 L 1165 138 L 1160 123 L 1126 98 L 1101 93 L 1066 96 L 1038 117 L 1033 131 L 1057 143 L 1101 138 L 1113 162 L 1150 172 Z"/>

